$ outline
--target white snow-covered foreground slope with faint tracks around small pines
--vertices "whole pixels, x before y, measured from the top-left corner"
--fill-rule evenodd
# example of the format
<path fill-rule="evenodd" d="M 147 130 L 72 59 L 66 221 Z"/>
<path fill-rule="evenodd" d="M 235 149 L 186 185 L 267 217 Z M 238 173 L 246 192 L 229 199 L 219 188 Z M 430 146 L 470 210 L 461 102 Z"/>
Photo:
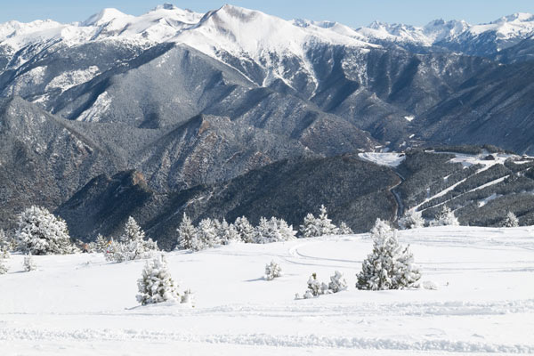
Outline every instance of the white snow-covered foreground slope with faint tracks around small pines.
<path fill-rule="evenodd" d="M 139 306 L 144 261 L 12 255 L 0 276 L 2 355 L 457 355 L 534 353 L 534 227 L 400 232 L 437 290 L 360 291 L 367 234 L 166 254 L 195 307 Z M 266 263 L 284 276 L 263 280 Z M 312 272 L 349 290 L 295 300 Z"/>

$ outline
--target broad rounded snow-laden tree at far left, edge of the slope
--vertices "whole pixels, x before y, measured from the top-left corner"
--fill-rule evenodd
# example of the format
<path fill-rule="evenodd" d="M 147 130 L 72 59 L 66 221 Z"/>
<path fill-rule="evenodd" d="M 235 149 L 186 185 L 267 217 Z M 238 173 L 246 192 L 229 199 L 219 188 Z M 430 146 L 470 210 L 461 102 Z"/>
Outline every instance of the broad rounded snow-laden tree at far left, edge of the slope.
<path fill-rule="evenodd" d="M 23 252 L 33 255 L 64 255 L 76 251 L 67 223 L 44 207 L 31 206 L 20 213 L 15 239 Z"/>

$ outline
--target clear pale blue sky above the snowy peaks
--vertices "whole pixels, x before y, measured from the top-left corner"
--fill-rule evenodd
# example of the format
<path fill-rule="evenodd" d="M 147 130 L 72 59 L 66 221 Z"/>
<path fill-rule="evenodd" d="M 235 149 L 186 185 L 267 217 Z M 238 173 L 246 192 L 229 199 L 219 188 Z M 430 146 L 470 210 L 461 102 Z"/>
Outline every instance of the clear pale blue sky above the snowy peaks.
<path fill-rule="evenodd" d="M 534 13 L 533 0 L 174 0 L 182 9 L 206 12 L 230 4 L 255 9 L 286 20 L 332 20 L 352 28 L 374 20 L 425 25 L 431 20 L 483 23 L 514 12 Z M 8 20 L 52 19 L 74 22 L 106 7 L 140 15 L 165 0 L 0 0 L 0 23 Z M 168 0 L 167 0 L 168 2 Z"/>

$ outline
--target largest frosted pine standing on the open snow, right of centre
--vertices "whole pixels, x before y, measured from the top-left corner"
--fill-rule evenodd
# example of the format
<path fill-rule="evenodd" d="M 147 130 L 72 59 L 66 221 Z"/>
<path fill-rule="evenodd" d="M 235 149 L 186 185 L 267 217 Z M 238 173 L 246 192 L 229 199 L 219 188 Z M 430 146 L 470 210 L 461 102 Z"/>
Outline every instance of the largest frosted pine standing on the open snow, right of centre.
<path fill-rule="evenodd" d="M 402 247 L 397 231 L 382 231 L 376 235 L 373 252 L 363 261 L 357 275 L 358 289 L 385 290 L 414 287 L 420 279 L 409 247 Z"/>

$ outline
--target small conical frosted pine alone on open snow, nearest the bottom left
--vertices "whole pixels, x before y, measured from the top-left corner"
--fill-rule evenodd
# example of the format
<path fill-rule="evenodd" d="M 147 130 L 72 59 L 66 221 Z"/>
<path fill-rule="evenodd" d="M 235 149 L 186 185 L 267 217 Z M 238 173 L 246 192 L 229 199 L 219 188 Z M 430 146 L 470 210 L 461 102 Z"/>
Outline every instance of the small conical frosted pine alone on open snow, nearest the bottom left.
<path fill-rule="evenodd" d="M 163 255 L 147 261 L 142 270 L 142 278 L 137 280 L 139 294 L 137 302 L 142 305 L 180 301 L 178 286 L 174 283 Z"/>

